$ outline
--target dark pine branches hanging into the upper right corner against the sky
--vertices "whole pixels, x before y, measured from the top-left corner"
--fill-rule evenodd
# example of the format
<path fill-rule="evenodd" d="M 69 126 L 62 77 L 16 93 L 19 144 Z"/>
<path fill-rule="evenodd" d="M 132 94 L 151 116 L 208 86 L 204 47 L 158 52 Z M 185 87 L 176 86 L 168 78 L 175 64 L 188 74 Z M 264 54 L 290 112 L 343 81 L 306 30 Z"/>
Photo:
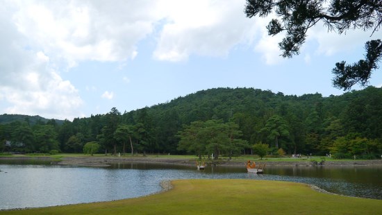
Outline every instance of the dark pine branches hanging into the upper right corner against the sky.
<path fill-rule="evenodd" d="M 267 17 L 272 12 L 279 19 L 272 19 L 267 26 L 269 35 L 284 31 L 285 37 L 279 43 L 284 58 L 298 55 L 306 40 L 309 28 L 323 22 L 328 31 L 339 34 L 349 29 L 379 31 L 382 23 L 381 0 L 247 0 L 244 10 L 247 17 Z M 365 44 L 365 60 L 354 65 L 338 62 L 333 69 L 333 86 L 348 90 L 359 83 L 367 85 L 373 69 L 378 69 L 381 60 L 381 40 L 370 40 Z"/>

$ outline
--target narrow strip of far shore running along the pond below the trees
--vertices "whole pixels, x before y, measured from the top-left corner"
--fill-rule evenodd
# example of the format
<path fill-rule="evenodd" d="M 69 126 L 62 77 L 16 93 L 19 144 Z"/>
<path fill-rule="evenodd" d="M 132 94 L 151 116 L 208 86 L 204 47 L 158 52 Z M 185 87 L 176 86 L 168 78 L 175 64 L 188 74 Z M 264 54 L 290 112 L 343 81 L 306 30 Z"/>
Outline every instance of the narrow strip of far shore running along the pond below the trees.
<path fill-rule="evenodd" d="M 0 160 L 42 160 L 51 164 L 68 166 L 89 166 L 89 167 L 108 167 L 118 163 L 152 163 L 170 164 L 177 166 L 195 166 L 195 159 L 167 158 L 167 157 L 111 157 L 111 156 L 88 156 L 88 157 L 62 157 L 57 158 L 48 156 L 17 156 L 0 157 Z M 265 166 L 381 166 L 382 160 L 329 160 L 319 164 L 312 160 L 252 160 Z M 207 166 L 244 166 L 246 160 L 206 160 Z"/>

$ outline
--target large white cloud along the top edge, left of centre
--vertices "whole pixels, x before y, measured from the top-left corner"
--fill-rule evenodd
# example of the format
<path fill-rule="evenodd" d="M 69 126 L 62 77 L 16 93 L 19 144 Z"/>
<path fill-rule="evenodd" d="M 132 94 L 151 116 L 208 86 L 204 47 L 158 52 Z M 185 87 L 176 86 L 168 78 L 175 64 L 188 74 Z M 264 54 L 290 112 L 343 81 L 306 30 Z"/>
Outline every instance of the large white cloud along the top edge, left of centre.
<path fill-rule="evenodd" d="M 134 59 L 136 44 L 158 19 L 156 3 L 149 1 L 17 1 L 16 6 L 17 30 L 69 67 L 83 60 Z"/>

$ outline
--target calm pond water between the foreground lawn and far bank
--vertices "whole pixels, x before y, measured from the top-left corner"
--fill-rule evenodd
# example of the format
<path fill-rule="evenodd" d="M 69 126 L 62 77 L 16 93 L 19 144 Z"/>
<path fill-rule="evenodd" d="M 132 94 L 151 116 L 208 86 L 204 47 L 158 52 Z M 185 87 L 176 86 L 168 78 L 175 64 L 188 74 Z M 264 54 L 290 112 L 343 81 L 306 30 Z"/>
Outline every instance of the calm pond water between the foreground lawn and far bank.
<path fill-rule="evenodd" d="M 0 163 L 0 209 L 44 207 L 135 198 L 161 190 L 160 181 L 244 178 L 315 184 L 347 196 L 382 199 L 382 167 L 267 167 L 264 175 L 244 168 L 115 164 L 109 168 Z"/>

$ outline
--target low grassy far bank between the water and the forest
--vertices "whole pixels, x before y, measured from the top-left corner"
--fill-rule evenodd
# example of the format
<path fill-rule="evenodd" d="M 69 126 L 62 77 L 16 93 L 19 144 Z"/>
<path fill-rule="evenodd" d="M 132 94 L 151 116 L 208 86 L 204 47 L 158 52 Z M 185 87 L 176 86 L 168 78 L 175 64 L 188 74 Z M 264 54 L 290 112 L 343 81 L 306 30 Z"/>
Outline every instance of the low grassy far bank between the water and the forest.
<path fill-rule="evenodd" d="M 198 160 L 194 155 L 104 155 L 94 156 L 83 154 L 57 154 L 57 155 L 0 155 L 0 160 L 46 160 L 62 165 L 74 166 L 108 166 L 117 162 L 151 162 L 160 164 L 194 165 Z M 242 155 L 239 157 L 219 157 L 219 160 L 206 160 L 209 165 L 218 166 L 244 166 L 244 162 L 252 160 L 256 163 L 266 164 L 267 166 L 312 166 L 324 160 L 324 166 L 354 166 L 354 165 L 382 165 L 382 160 L 334 160 L 328 157 L 267 157 L 263 160 L 256 155 Z"/>

